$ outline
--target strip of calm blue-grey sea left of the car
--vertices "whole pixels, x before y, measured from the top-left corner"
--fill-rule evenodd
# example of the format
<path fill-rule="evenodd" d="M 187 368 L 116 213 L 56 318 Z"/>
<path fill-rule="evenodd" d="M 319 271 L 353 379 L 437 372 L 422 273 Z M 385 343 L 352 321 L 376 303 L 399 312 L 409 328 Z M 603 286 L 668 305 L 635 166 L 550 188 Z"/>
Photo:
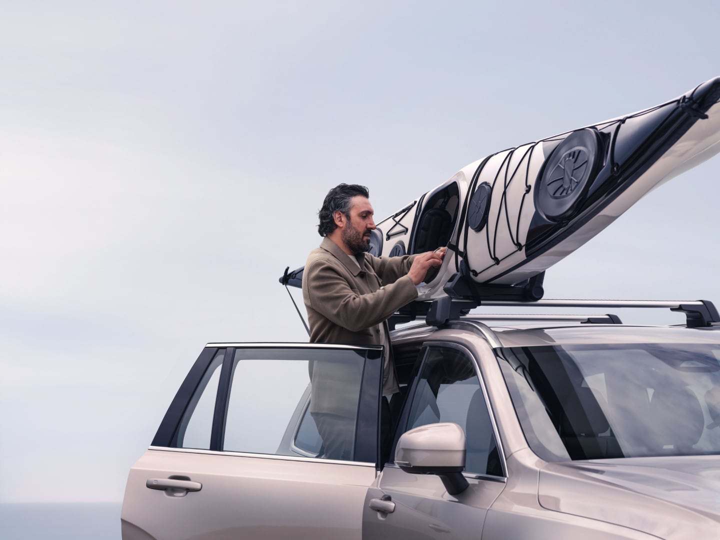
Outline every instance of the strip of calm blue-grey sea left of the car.
<path fill-rule="evenodd" d="M 2 503 L 2 540 L 120 540 L 122 503 Z"/>

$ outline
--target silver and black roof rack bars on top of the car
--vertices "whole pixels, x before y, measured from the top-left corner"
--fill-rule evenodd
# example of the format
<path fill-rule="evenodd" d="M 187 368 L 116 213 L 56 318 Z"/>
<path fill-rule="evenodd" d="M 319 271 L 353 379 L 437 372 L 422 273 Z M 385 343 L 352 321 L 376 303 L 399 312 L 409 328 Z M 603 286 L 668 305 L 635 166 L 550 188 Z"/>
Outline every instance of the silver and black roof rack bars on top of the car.
<path fill-rule="evenodd" d="M 688 328 L 703 328 L 720 323 L 720 314 L 709 300 L 671 301 L 671 300 L 536 300 L 524 302 L 518 300 L 459 300 L 442 297 L 432 302 L 411 302 L 402 307 L 390 318 L 390 328 L 401 323 L 409 323 L 418 317 L 425 317 L 426 324 L 443 326 L 450 320 L 467 315 L 470 310 L 483 306 L 505 307 L 660 307 L 670 311 L 684 312 Z M 494 320 L 575 320 L 580 323 L 621 324 L 617 315 L 482 315 Z"/>

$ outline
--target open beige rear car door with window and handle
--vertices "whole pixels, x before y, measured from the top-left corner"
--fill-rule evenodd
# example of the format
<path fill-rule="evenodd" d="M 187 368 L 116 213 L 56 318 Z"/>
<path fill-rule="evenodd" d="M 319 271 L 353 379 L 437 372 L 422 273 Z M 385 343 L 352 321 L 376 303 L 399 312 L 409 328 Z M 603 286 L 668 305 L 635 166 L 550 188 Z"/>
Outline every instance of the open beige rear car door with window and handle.
<path fill-rule="evenodd" d="M 208 345 L 130 470 L 123 540 L 361 539 L 381 379 L 379 347 Z"/>

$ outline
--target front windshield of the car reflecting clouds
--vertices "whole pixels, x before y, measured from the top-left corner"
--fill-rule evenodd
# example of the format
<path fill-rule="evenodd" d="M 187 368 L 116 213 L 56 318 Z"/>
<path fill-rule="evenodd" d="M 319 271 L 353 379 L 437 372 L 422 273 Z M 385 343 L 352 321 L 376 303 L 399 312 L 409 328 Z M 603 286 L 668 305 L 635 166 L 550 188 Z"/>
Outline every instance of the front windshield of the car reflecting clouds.
<path fill-rule="evenodd" d="M 720 344 L 503 348 L 528 444 L 546 461 L 720 454 Z"/>

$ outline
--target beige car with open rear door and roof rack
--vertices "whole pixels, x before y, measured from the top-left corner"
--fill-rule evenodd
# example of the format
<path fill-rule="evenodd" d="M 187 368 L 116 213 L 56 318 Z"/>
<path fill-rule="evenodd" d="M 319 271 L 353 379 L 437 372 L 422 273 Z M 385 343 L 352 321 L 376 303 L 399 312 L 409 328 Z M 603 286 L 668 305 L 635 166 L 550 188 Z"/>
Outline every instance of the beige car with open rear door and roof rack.
<path fill-rule="evenodd" d="M 493 305 L 518 313 L 392 320 L 390 400 L 379 346 L 208 343 L 130 470 L 123 540 L 719 538 L 714 305 Z"/>

